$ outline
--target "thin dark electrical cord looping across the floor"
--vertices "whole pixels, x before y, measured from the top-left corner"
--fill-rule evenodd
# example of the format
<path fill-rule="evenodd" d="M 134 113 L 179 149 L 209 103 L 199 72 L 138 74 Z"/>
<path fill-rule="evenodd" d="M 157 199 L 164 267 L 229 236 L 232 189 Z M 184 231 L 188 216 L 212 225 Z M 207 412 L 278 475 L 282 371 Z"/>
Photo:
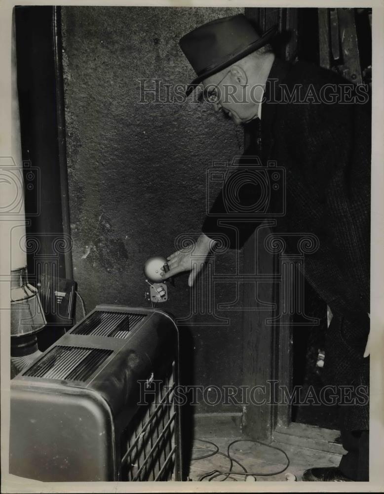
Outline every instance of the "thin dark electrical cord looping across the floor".
<path fill-rule="evenodd" d="M 197 439 L 197 441 L 202 441 L 204 443 L 208 443 L 212 446 L 215 447 L 215 451 L 214 452 L 211 452 L 210 454 L 208 455 L 204 455 L 202 457 L 197 457 L 197 458 L 192 458 L 192 460 L 197 460 L 197 459 L 202 459 L 202 458 L 207 458 L 208 456 L 213 456 L 215 454 L 220 454 L 222 456 L 225 456 L 227 458 L 229 458 L 230 460 L 230 468 L 228 471 L 226 472 L 223 472 L 221 470 L 212 470 L 211 472 L 208 472 L 204 475 L 202 475 L 200 478 L 199 478 L 199 481 L 201 482 L 202 480 L 206 479 L 207 477 L 210 477 L 208 479 L 208 482 L 212 481 L 213 479 L 215 479 L 216 477 L 219 477 L 221 475 L 224 475 L 225 478 L 221 481 L 225 481 L 227 480 L 228 478 L 231 478 L 233 480 L 237 480 L 235 479 L 234 477 L 232 477 L 232 475 L 244 475 L 245 479 L 247 478 L 247 476 L 261 476 L 261 477 L 271 477 L 271 476 L 274 476 L 274 475 L 278 475 L 280 473 L 283 473 L 288 467 L 289 467 L 289 464 L 290 464 L 290 461 L 289 461 L 289 458 L 288 458 L 288 455 L 287 453 L 285 453 L 285 451 L 283 451 L 282 449 L 280 448 L 277 448 L 276 446 L 271 446 L 270 444 L 266 444 L 266 443 L 262 443 L 261 441 L 258 441 L 256 439 L 236 439 L 235 441 L 232 441 L 229 445 L 228 445 L 228 448 L 227 448 L 227 454 L 225 453 L 222 453 L 219 451 L 219 447 L 215 444 L 215 443 L 212 443 L 211 441 L 206 441 L 206 440 L 203 440 L 203 439 Z M 235 458 L 233 458 L 231 455 L 230 455 L 230 448 L 236 444 L 236 443 L 241 443 L 241 442 L 245 442 L 245 441 L 248 441 L 248 442 L 251 442 L 251 443 L 255 443 L 255 444 L 260 444 L 262 446 L 266 446 L 267 448 L 271 448 L 273 450 L 277 450 L 281 453 L 284 454 L 284 456 L 286 457 L 287 459 L 287 464 L 284 466 L 284 468 L 282 468 L 281 470 L 277 471 L 277 472 L 270 472 L 270 473 L 263 473 L 263 472 L 248 472 L 246 470 L 246 468 L 239 462 L 237 461 Z M 243 470 L 244 470 L 244 473 L 243 472 L 234 472 L 232 470 L 233 468 L 233 462 L 237 463 Z"/>

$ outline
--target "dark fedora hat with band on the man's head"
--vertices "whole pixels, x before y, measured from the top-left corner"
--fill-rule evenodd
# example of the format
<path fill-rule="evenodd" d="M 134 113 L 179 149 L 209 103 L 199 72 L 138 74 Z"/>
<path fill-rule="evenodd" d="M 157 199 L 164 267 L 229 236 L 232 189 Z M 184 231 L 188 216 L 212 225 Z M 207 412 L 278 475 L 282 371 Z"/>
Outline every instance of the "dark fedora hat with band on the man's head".
<path fill-rule="evenodd" d="M 215 19 L 183 36 L 180 47 L 197 74 L 187 96 L 203 79 L 266 45 L 276 32 L 277 25 L 260 37 L 245 15 L 238 14 Z"/>

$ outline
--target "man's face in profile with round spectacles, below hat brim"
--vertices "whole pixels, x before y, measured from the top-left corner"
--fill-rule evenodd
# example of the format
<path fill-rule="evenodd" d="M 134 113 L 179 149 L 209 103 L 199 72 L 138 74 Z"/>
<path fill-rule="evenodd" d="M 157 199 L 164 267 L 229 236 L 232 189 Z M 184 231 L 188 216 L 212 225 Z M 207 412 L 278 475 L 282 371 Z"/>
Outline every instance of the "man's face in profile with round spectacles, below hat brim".
<path fill-rule="evenodd" d="M 235 125 L 253 120 L 258 110 L 255 102 L 250 101 L 247 84 L 238 79 L 232 66 L 203 81 L 205 101 L 209 101 L 216 112 L 225 113 Z"/>

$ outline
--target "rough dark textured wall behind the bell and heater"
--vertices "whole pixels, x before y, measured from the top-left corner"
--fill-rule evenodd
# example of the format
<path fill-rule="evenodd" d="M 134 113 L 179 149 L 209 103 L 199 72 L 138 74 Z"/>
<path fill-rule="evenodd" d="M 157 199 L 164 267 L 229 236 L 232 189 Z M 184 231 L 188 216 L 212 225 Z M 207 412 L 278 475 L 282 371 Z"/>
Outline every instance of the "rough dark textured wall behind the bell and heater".
<path fill-rule="evenodd" d="M 140 104 L 137 79 L 189 82 L 194 74 L 181 36 L 242 10 L 62 8 L 74 273 L 88 310 L 99 303 L 148 306 L 146 259 L 173 252 L 180 234 L 198 235 L 206 169 L 239 154 L 242 130 L 208 104 Z M 234 272 L 235 255 L 217 258 L 216 272 Z M 178 277 L 160 305 L 176 318 L 190 313 L 187 279 Z M 216 288 L 216 304 L 235 299 L 233 284 Z M 229 326 L 200 316 L 192 322 L 205 326 L 180 327 L 184 367 L 195 384 L 241 384 L 241 311 L 220 315 L 230 316 Z"/>

